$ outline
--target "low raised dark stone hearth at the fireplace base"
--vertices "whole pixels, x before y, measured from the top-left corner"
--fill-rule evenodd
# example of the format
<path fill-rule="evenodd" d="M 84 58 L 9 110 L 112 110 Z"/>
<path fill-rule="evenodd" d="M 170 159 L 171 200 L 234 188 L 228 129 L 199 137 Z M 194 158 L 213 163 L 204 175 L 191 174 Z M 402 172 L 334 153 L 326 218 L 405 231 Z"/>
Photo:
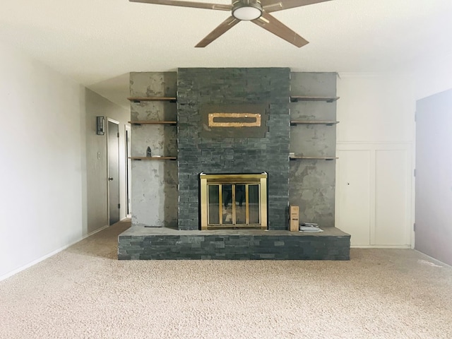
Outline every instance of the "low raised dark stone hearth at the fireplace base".
<path fill-rule="evenodd" d="M 349 260 L 350 234 L 284 230 L 173 230 L 131 227 L 119 235 L 119 260 Z"/>

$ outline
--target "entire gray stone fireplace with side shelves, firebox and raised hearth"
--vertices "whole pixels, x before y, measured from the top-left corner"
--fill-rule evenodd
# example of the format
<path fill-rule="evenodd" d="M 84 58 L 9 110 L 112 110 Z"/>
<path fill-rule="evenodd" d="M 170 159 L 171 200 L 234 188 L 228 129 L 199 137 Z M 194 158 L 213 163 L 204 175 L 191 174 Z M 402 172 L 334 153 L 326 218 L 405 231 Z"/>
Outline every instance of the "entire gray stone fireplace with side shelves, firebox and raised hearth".
<path fill-rule="evenodd" d="M 131 73 L 132 227 L 118 258 L 348 260 L 326 161 L 335 160 L 335 76 Z M 289 205 L 324 232 L 289 232 Z"/>

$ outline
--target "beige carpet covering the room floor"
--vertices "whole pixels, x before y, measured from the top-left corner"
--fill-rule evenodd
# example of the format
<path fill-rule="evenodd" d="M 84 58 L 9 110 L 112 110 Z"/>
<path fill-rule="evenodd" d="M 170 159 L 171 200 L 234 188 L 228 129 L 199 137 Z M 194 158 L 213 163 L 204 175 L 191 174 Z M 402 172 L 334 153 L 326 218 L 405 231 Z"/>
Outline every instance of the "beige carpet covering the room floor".
<path fill-rule="evenodd" d="M 351 261 L 117 261 L 109 227 L 0 282 L 0 338 L 452 338 L 452 268 Z"/>

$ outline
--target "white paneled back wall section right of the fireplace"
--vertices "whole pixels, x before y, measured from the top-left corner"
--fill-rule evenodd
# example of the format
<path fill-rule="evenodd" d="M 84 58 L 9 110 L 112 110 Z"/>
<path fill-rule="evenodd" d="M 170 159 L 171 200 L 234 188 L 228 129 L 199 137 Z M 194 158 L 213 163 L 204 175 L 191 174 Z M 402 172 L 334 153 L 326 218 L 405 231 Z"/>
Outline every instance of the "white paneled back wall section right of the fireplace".
<path fill-rule="evenodd" d="M 410 247 L 415 100 L 403 74 L 340 74 L 335 225 L 352 246 Z"/>

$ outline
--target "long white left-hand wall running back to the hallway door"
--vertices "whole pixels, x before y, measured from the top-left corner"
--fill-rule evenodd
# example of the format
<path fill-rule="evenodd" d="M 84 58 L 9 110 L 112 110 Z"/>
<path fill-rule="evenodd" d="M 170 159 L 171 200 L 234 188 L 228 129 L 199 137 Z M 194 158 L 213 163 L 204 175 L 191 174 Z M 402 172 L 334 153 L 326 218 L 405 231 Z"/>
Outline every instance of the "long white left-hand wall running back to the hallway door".
<path fill-rule="evenodd" d="M 124 121 L 129 112 L 4 44 L 0 75 L 2 280 L 106 225 L 92 218 L 105 209 L 88 203 L 88 194 L 103 184 L 87 186 L 95 167 L 87 157 L 90 129 L 95 115 Z"/>

